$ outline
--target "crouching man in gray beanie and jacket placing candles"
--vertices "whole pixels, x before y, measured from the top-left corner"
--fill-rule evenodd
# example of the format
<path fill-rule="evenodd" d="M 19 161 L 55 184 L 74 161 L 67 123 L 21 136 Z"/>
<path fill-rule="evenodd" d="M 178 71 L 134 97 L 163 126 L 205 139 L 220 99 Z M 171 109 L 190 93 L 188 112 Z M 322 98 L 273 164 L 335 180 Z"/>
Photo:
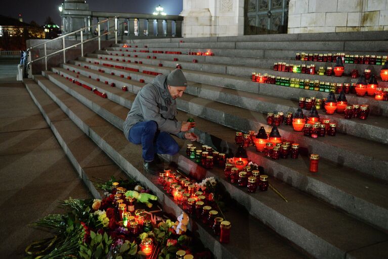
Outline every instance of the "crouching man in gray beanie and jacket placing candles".
<path fill-rule="evenodd" d="M 158 75 L 137 94 L 131 111 L 124 122 L 125 137 L 134 144 L 142 144 L 144 169 L 156 174 L 163 168 L 156 154 L 175 155 L 178 143 L 170 136 L 176 135 L 191 141 L 198 137 L 188 132 L 195 122 L 178 122 L 176 99 L 182 97 L 187 80 L 181 69 L 168 76 Z"/>

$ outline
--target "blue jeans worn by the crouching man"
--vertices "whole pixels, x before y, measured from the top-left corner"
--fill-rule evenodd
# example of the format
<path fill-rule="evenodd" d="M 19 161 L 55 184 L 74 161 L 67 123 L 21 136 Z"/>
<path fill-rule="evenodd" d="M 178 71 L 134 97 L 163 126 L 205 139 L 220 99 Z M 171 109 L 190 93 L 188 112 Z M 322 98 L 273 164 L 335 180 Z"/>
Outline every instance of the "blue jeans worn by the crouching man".
<path fill-rule="evenodd" d="M 178 143 L 167 132 L 160 132 L 155 121 L 138 122 L 132 126 L 128 140 L 142 144 L 143 159 L 154 160 L 155 154 L 175 155 L 179 152 Z"/>

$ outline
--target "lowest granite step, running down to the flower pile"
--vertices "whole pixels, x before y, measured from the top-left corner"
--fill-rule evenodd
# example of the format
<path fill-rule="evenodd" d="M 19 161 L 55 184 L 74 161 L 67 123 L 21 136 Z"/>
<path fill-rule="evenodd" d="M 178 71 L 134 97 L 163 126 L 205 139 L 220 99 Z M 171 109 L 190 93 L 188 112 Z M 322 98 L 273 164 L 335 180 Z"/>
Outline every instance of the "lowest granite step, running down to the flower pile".
<path fill-rule="evenodd" d="M 35 82 L 25 82 L 25 86 L 78 176 L 95 199 L 103 197 L 103 191 L 95 186 L 97 178 L 106 180 L 111 176 L 116 179 L 126 178 L 121 169 L 70 120 L 44 90 Z M 97 115 L 89 119 L 95 123 L 102 122 Z"/>

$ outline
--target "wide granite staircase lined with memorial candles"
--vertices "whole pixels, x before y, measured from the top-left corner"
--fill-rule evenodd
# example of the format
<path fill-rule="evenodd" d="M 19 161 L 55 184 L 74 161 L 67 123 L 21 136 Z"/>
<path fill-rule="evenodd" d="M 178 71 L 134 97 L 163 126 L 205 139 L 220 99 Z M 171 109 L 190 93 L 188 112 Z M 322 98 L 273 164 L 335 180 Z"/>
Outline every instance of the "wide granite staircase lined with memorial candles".
<path fill-rule="evenodd" d="M 148 186 L 166 211 L 178 215 L 181 207 L 160 189 L 157 177 L 143 172 L 141 146 L 129 143 L 122 134 L 122 123 L 136 94 L 155 77 L 146 71 L 168 73 L 179 63 L 189 86 L 184 96 L 177 99 L 181 111 L 178 119 L 195 119 L 195 132 L 200 136 L 200 142 L 195 143 L 197 147 L 207 144 L 233 154 L 235 131 L 247 132 L 260 126 L 270 131 L 266 123 L 268 112 L 294 113 L 299 96 L 327 95 L 254 83 L 250 79 L 252 72 L 355 82 L 357 79 L 350 77 L 275 72 L 271 67 L 278 61 L 297 64 L 292 59 L 301 51 L 386 55 L 383 51 L 388 49 L 387 39 L 388 33 L 363 32 L 138 40 L 79 57 L 44 71 L 41 76 L 35 75 L 33 81 L 26 80 L 25 84 L 96 197 L 100 194 L 93 189 L 91 177 L 127 174 Z M 214 56 L 185 55 L 208 50 Z M 183 54 L 166 54 L 166 51 Z M 345 64 L 345 68 L 346 72 L 354 68 L 378 72 L 380 66 Z M 380 81 L 379 84 L 386 85 Z M 82 85 L 106 93 L 107 98 Z M 123 86 L 127 92 L 121 90 Z M 388 257 L 387 102 L 354 94 L 347 98 L 349 103 L 368 103 L 371 115 L 365 121 L 345 120 L 343 115 L 326 116 L 324 110 L 319 110 L 321 118 L 337 122 L 335 137 L 312 139 L 290 126 L 279 127 L 284 139 L 303 147 L 298 159 L 272 160 L 257 153 L 254 147 L 247 149 L 249 159 L 264 167 L 271 184 L 287 197 L 288 203 L 270 190 L 248 194 L 246 189 L 228 182 L 222 168 L 204 169 L 186 157 L 186 141 L 177 139 L 182 147 L 180 153 L 165 159 L 175 162 L 185 173 L 214 176 L 234 200 L 225 212 L 233 225 L 230 244 L 220 244 L 209 228 L 195 219 L 191 221 L 191 230 L 198 233 L 215 257 Z M 311 153 L 321 157 L 316 174 L 308 169 Z M 108 160 L 114 163 L 107 164 L 106 170 L 103 167 L 93 170 L 85 166 L 85 161 L 89 164 L 92 160 L 96 164 Z"/>

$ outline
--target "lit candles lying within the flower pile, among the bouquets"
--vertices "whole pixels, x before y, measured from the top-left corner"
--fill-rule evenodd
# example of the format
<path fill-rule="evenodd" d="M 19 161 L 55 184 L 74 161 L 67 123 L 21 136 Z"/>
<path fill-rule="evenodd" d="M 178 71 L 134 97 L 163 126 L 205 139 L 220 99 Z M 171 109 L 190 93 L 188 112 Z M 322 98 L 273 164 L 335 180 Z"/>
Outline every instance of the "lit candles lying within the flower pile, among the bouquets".
<path fill-rule="evenodd" d="M 149 214 L 144 209 L 135 210 L 135 198 L 125 197 L 126 189 L 119 187 L 118 182 L 112 183 L 111 193 L 114 195 L 113 206 L 120 217 L 120 223 L 128 229 L 133 237 L 139 236 L 141 232 L 152 231 L 152 223 Z M 154 249 L 153 240 L 145 238 L 140 244 L 140 250 L 150 255 Z"/>

